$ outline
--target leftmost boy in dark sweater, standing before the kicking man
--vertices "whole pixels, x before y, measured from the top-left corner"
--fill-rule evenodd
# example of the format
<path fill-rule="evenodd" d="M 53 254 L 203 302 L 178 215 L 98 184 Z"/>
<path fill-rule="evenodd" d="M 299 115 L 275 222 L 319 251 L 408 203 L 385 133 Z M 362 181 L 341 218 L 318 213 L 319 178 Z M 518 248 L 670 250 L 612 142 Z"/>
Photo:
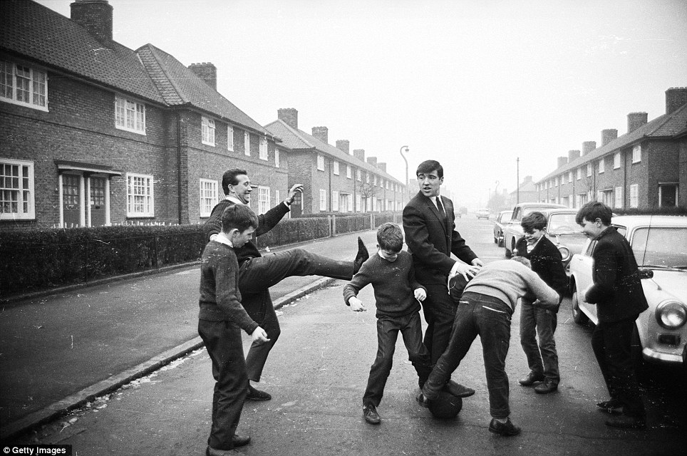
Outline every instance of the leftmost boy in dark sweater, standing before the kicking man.
<path fill-rule="evenodd" d="M 253 341 L 269 339 L 241 306 L 239 264 L 234 249 L 250 239 L 257 225 L 257 217 L 249 207 L 227 207 L 222 212 L 222 232 L 205 246 L 200 262 L 198 333 L 212 360 L 216 382 L 212 428 L 205 450 L 208 456 L 235 454 L 234 447 L 250 442 L 250 437 L 234 433 L 248 393 L 240 330 L 249 333 Z"/>

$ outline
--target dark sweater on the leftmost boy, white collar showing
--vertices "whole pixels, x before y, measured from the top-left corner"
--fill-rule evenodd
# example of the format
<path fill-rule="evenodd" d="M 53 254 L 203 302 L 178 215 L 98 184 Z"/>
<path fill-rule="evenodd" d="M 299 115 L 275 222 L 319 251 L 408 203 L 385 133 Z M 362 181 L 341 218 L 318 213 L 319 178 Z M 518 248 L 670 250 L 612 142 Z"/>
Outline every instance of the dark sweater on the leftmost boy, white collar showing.
<path fill-rule="evenodd" d="M 234 249 L 210 241 L 200 260 L 200 313 L 205 321 L 229 321 L 251 334 L 258 327 L 241 305 L 239 263 Z"/>

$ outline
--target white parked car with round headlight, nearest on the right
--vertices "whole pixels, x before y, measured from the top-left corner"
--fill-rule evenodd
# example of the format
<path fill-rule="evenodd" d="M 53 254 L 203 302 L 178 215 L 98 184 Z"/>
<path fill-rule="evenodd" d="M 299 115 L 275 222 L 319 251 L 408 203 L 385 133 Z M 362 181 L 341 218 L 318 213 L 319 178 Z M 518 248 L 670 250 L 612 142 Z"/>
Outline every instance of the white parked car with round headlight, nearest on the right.
<path fill-rule="evenodd" d="M 629 215 L 613 217 L 612 224 L 632 246 L 649 302 L 636 320 L 636 360 L 686 366 L 687 217 Z M 592 283 L 594 247 L 590 242 L 570 263 L 572 318 L 579 324 L 598 323 L 596 306 L 583 295 Z"/>

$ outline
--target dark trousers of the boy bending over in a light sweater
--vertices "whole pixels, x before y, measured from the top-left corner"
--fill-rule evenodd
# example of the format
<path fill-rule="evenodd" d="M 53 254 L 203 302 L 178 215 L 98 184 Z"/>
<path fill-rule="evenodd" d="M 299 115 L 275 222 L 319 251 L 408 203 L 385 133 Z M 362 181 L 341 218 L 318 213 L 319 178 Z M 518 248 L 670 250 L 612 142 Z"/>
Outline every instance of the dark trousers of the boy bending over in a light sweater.
<path fill-rule="evenodd" d="M 510 391 L 505 363 L 510 346 L 511 314 L 510 306 L 500 299 L 477 293 L 463 294 L 455 314 L 448 348 L 437 361 L 423 388 L 425 397 L 430 400 L 437 397 L 451 373 L 465 358 L 472 341 L 480 336 L 490 414 L 494 418 L 507 418 L 510 415 Z"/>

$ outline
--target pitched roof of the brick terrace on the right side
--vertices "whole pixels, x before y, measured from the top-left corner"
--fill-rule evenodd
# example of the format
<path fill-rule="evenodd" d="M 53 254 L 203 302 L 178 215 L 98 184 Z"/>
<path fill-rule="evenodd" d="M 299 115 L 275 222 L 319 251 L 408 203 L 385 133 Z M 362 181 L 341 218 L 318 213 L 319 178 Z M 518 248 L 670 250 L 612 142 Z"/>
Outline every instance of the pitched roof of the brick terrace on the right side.
<path fill-rule="evenodd" d="M 625 135 L 619 136 L 618 138 L 612 140 L 606 145 L 603 145 L 597 149 L 592 150 L 582 157 L 577 157 L 572 162 L 557 168 L 553 172 L 549 172 L 548 175 L 542 177 L 539 182 L 551 179 L 557 175 L 561 175 L 564 172 L 569 172 L 583 165 L 587 162 L 592 162 L 599 157 L 607 155 L 611 152 L 616 152 L 617 150 L 633 144 L 634 142 L 639 142 L 644 138 L 674 138 L 679 135 L 685 127 L 687 126 L 687 103 L 682 105 L 680 108 L 674 110 L 670 114 L 663 114 L 645 123 L 641 127 L 634 131 L 626 133 Z"/>

